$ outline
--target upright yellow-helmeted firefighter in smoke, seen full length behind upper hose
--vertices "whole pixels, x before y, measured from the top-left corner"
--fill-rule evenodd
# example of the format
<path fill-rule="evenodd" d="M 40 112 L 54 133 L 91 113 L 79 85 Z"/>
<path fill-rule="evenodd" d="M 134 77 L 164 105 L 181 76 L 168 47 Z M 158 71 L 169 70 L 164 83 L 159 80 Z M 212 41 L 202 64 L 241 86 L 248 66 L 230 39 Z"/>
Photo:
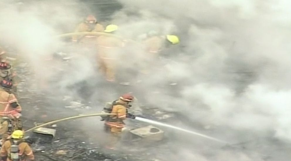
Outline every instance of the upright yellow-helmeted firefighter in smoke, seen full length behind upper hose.
<path fill-rule="evenodd" d="M 104 32 L 113 34 L 118 29 L 117 25 L 108 25 Z M 97 38 L 97 62 L 99 70 L 107 81 L 115 81 L 116 59 L 121 54 L 125 40 L 114 36 L 101 35 Z"/>

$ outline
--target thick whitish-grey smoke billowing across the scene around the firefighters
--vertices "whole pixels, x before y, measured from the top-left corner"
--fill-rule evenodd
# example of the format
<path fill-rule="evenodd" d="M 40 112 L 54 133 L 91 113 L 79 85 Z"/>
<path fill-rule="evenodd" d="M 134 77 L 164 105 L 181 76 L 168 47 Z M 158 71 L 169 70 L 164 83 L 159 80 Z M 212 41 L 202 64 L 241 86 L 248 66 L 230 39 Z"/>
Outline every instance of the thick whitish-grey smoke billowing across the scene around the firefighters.
<path fill-rule="evenodd" d="M 166 160 L 290 158 L 290 1 L 0 1 L 0 6 L 1 46 L 21 54 L 34 78 L 48 83 L 57 77 L 53 86 L 40 83 L 41 91 L 83 97 L 99 107 L 133 92 L 143 105 L 179 114 L 174 125 L 203 129 L 230 143 L 249 141 L 223 148 L 198 136 L 173 135 Z M 181 42 L 165 49 L 148 75 L 136 69 L 144 52 L 128 45 L 123 54 L 130 59 L 121 59 L 118 78 L 131 86 L 111 85 L 96 71 L 92 52 L 54 37 L 72 32 L 87 14 L 104 26 L 119 25 L 117 34 L 127 39 L 158 30 Z M 66 65 L 45 60 L 56 51 L 78 56 Z M 79 86 L 67 88 L 83 80 L 91 87 L 85 98 Z"/>

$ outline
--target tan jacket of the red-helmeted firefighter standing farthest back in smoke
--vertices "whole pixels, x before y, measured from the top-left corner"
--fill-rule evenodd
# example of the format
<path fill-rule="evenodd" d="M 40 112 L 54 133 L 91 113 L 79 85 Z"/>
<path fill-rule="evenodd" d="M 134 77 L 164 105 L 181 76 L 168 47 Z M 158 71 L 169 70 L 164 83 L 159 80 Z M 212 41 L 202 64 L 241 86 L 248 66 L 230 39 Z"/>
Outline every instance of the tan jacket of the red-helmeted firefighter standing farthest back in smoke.
<path fill-rule="evenodd" d="M 75 29 L 75 32 L 103 32 L 104 31 L 104 27 L 103 25 L 96 23 L 96 24 L 89 24 L 89 23 L 80 23 L 77 28 Z M 81 39 L 82 37 L 85 38 L 96 38 L 96 36 L 94 35 L 74 35 L 72 36 L 72 41 L 78 41 L 79 39 Z"/>

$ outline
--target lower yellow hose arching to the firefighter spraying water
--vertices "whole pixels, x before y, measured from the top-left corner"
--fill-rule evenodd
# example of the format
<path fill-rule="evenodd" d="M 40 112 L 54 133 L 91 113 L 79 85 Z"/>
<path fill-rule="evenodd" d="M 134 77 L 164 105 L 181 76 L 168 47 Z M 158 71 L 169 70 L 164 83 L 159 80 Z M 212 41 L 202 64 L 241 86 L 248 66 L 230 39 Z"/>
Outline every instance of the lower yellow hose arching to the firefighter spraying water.
<path fill-rule="evenodd" d="M 49 121 L 49 122 L 43 123 L 41 125 L 32 127 L 30 129 L 26 130 L 25 132 L 29 132 L 29 131 L 35 130 L 35 129 L 39 128 L 39 127 L 43 127 L 43 126 L 46 126 L 46 125 L 54 124 L 54 123 L 57 123 L 57 122 L 60 122 L 60 121 L 77 119 L 77 118 L 81 118 L 81 117 L 106 116 L 106 115 L 116 115 L 116 114 L 111 114 L 111 113 L 98 113 L 98 114 L 81 114 L 81 115 L 77 115 L 77 116 L 65 117 L 65 118 L 62 118 L 62 119 L 57 119 L 57 120 Z"/>

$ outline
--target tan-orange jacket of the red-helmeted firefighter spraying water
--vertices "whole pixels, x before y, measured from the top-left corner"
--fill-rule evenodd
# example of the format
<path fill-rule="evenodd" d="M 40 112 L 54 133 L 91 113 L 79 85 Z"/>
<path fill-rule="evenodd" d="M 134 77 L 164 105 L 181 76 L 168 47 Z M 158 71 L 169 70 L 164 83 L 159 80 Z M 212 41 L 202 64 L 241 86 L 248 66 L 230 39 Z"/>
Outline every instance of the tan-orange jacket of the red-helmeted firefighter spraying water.
<path fill-rule="evenodd" d="M 123 120 L 126 119 L 127 102 L 124 102 L 123 100 L 119 99 L 116 101 L 116 103 L 118 103 L 118 105 L 114 105 L 112 107 L 112 112 L 111 112 L 112 114 L 116 114 L 116 115 L 109 116 L 110 119 L 106 121 L 105 124 L 110 127 L 123 128 L 124 127 Z"/>

